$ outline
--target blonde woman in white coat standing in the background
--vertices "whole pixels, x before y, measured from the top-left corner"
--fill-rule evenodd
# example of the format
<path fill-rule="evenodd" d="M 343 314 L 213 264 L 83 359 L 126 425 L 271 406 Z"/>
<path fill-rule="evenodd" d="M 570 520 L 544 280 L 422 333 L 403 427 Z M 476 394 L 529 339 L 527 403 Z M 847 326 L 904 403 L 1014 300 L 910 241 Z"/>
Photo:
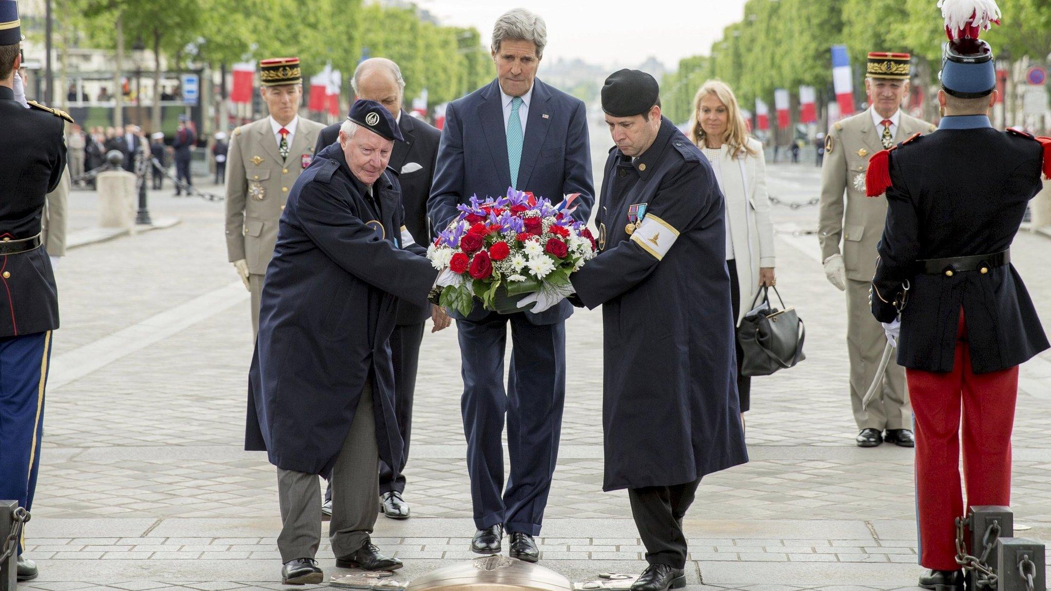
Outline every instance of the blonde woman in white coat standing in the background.
<path fill-rule="evenodd" d="M 708 80 L 694 97 L 689 139 L 712 163 L 725 198 L 726 267 L 734 320 L 740 323 L 756 291 L 776 283 L 763 144 L 747 136 L 734 91 L 719 80 Z M 750 406 L 751 379 L 741 375 L 741 354 L 738 345 L 737 390 L 743 414 Z"/>

